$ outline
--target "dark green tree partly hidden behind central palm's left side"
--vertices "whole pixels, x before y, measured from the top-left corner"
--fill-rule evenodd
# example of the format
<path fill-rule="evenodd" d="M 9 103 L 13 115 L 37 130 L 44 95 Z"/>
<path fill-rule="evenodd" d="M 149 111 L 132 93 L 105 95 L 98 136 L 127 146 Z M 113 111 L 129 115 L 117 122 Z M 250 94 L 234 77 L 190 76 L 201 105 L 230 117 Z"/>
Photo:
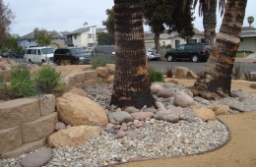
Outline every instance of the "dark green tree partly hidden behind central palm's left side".
<path fill-rule="evenodd" d="M 107 32 L 100 32 L 97 36 L 98 45 L 114 44 L 114 8 L 105 11 L 107 19 L 102 21 L 102 25 L 106 27 Z"/>

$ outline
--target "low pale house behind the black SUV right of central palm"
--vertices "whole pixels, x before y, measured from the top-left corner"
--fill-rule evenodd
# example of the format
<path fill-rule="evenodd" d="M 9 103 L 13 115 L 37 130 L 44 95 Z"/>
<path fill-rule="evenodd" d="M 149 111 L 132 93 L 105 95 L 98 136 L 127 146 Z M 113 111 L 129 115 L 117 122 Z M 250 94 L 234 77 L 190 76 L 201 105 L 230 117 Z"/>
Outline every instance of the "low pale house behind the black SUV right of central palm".
<path fill-rule="evenodd" d="M 145 32 L 145 46 L 146 49 L 153 49 L 155 48 L 155 34 L 152 32 Z M 205 42 L 205 35 L 204 32 L 195 28 L 195 35 L 189 39 L 182 39 L 179 36 L 179 33 L 176 31 L 168 33 L 167 30 L 164 30 L 163 33 L 160 34 L 160 46 L 167 46 L 171 45 L 172 48 L 176 48 L 180 44 L 186 43 L 204 43 Z"/>

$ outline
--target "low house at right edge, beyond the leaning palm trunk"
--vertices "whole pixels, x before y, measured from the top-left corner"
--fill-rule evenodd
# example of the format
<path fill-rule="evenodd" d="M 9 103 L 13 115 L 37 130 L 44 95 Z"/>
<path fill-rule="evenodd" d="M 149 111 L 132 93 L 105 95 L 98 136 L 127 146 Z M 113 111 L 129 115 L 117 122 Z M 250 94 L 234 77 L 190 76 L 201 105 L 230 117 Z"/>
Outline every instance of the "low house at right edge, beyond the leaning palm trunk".
<path fill-rule="evenodd" d="M 256 28 L 244 27 L 241 31 L 238 51 L 256 52 Z"/>

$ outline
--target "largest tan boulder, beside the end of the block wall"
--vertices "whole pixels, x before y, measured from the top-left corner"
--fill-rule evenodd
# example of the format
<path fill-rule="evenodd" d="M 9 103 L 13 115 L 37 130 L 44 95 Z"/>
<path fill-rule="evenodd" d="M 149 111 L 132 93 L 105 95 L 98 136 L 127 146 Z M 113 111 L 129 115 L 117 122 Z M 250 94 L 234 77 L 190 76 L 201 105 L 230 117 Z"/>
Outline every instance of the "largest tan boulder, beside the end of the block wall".
<path fill-rule="evenodd" d="M 88 97 L 65 93 L 57 98 L 57 111 L 62 122 L 71 126 L 105 126 L 105 110 Z"/>

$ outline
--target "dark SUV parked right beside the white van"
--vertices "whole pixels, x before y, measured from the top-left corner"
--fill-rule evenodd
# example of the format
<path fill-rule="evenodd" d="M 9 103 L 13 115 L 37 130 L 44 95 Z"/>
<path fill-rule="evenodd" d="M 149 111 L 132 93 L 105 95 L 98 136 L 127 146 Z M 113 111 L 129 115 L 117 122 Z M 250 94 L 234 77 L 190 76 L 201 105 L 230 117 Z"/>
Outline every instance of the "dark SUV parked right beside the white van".
<path fill-rule="evenodd" d="M 91 63 L 91 52 L 86 52 L 82 47 L 58 48 L 54 52 L 53 63 L 61 65 L 62 63 L 71 65 Z"/>

